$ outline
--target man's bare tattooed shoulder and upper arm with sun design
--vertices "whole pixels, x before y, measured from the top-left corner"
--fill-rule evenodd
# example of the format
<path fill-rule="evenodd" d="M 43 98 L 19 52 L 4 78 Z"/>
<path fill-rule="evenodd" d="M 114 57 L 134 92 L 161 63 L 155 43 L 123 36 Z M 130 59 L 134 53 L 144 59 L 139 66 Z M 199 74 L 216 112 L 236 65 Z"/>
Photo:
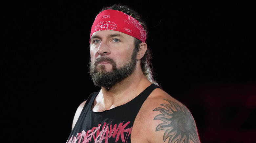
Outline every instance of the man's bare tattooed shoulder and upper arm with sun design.
<path fill-rule="evenodd" d="M 148 142 L 200 142 L 190 111 L 160 88 L 149 95 L 136 120 L 140 129 L 147 131 Z"/>

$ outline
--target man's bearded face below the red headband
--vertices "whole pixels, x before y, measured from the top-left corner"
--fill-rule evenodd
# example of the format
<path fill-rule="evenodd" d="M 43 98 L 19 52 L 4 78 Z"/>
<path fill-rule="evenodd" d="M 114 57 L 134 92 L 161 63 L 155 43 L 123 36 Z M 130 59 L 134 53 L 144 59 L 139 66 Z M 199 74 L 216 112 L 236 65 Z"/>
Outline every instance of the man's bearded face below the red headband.
<path fill-rule="evenodd" d="M 134 38 L 118 31 L 95 32 L 91 38 L 90 54 L 90 75 L 99 87 L 110 89 L 136 68 Z"/>

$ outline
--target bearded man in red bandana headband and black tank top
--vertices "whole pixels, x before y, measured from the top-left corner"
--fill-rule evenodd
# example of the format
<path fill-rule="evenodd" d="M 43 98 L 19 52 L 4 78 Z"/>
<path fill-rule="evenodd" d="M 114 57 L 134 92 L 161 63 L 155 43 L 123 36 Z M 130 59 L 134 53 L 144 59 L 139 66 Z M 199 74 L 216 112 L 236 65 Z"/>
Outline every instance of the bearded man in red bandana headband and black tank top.
<path fill-rule="evenodd" d="M 103 8 L 96 16 L 90 75 L 101 89 L 78 107 L 67 143 L 200 142 L 189 110 L 152 78 L 146 33 L 126 6 Z"/>

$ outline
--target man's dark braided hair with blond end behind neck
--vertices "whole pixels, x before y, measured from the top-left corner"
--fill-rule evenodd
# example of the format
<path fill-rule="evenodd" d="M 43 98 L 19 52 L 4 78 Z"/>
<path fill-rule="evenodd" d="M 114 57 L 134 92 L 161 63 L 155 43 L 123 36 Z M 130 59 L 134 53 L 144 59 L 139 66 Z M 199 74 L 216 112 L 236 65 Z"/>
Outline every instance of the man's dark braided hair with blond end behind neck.
<path fill-rule="evenodd" d="M 104 7 L 104 8 L 101 9 L 101 11 L 107 10 L 107 9 L 118 10 L 118 11 L 126 13 L 126 14 L 130 15 L 131 17 L 135 18 L 142 25 L 142 27 L 144 28 L 144 30 L 146 32 L 146 37 L 147 37 L 148 29 L 147 29 L 146 23 L 142 20 L 141 16 L 135 10 L 133 10 L 129 6 L 116 5 L 115 4 L 115 5 L 110 6 L 110 7 Z M 134 45 L 135 45 L 135 50 L 136 51 L 139 51 L 139 44 L 140 43 L 142 43 L 142 41 L 140 41 L 139 39 L 135 38 Z M 152 57 L 151 51 L 148 48 L 146 50 L 146 52 L 145 52 L 145 55 L 141 58 L 140 66 L 141 66 L 142 72 L 146 76 L 146 78 L 150 82 L 158 85 L 158 83 L 153 78 L 153 70 L 152 70 L 151 57 Z"/>

